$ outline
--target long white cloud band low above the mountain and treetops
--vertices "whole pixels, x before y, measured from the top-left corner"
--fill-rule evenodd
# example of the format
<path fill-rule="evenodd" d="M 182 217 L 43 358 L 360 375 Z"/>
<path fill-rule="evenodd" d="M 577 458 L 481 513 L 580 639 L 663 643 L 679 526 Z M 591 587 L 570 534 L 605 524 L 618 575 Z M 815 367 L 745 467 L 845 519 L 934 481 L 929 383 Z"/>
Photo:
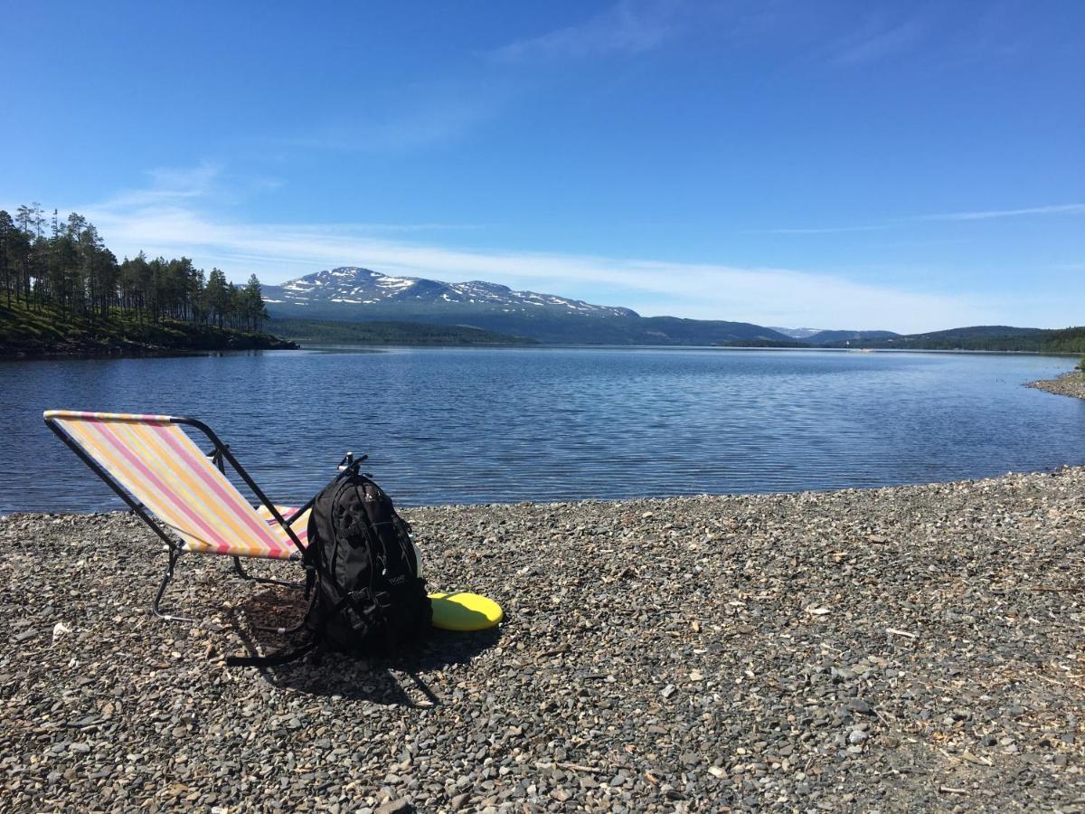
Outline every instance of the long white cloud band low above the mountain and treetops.
<path fill-rule="evenodd" d="M 183 254 L 197 266 L 222 268 L 235 280 L 255 272 L 265 283 L 278 283 L 321 268 L 359 265 L 448 281 L 484 279 L 625 305 L 646 316 L 899 331 L 985 321 L 984 309 L 972 301 L 818 271 L 484 251 L 390 240 L 363 225 L 238 224 L 204 215 L 189 201 L 132 206 L 118 205 L 117 200 L 84 212 L 119 255 L 140 250 Z M 607 295 L 599 296 L 600 290 Z"/>

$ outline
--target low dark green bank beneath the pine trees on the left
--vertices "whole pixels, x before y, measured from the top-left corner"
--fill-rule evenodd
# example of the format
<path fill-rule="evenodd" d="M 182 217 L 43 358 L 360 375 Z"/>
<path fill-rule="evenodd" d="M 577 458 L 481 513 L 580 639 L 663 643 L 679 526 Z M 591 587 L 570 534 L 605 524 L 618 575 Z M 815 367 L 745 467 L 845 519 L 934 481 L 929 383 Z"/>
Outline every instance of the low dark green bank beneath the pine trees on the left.
<path fill-rule="evenodd" d="M 264 333 L 175 320 L 142 322 L 129 315 L 107 318 L 64 314 L 43 305 L 0 305 L 0 357 L 36 355 L 122 355 L 186 351 L 293 347 Z"/>

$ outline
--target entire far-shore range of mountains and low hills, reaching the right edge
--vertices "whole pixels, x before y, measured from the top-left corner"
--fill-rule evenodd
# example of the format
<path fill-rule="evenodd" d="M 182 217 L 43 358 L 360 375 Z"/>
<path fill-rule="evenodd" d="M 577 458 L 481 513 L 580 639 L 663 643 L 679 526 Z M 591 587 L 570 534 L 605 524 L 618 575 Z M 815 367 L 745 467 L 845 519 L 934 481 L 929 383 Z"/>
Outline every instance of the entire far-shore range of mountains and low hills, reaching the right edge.
<path fill-rule="evenodd" d="M 358 266 L 341 266 L 282 285 L 265 285 L 264 301 L 272 320 L 280 323 L 281 320 L 332 320 L 341 326 L 344 322 L 425 323 L 455 328 L 460 331 L 456 341 L 467 343 L 529 340 L 550 344 L 1076 352 L 1085 342 L 1085 329 L 1051 331 L 978 326 L 903 335 L 892 331 L 766 328 L 751 322 L 642 317 L 629 308 L 592 305 L 534 291 L 513 291 L 507 285 L 480 280 L 448 283 L 420 277 L 394 277 Z M 293 328 L 298 338 L 314 331 L 323 335 L 330 330 L 327 326 L 301 323 L 294 323 Z M 505 336 L 470 333 L 469 329 Z M 284 330 L 289 333 L 291 329 L 284 326 Z M 344 330 L 345 327 L 333 332 L 343 339 Z M 431 334 L 438 335 L 418 325 L 409 330 L 403 325 L 384 325 L 367 328 L 363 333 L 367 331 L 366 335 L 375 331 L 387 341 L 392 341 L 388 336 L 394 339 L 419 331 L 427 331 L 427 341 L 433 339 Z"/>

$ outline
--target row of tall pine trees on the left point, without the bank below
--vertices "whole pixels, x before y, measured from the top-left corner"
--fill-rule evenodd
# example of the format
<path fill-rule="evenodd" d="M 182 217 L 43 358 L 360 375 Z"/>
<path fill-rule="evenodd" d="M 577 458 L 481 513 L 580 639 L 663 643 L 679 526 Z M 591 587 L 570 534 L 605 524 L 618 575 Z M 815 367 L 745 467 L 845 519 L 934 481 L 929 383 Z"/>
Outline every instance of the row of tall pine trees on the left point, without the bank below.
<path fill-rule="evenodd" d="M 88 318 L 124 313 L 140 321 L 176 319 L 259 331 L 268 318 L 256 275 L 244 285 L 217 268 L 205 275 L 188 257 L 117 263 L 93 224 L 77 213 L 48 218 L 41 205 L 0 209 L 0 283 L 8 307 Z"/>

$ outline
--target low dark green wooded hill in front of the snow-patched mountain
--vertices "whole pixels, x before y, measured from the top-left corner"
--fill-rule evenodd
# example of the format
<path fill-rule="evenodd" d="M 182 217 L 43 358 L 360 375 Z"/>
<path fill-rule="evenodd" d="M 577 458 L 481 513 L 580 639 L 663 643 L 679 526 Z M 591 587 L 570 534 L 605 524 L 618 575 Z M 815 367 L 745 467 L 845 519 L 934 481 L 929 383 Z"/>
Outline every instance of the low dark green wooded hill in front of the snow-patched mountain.
<path fill-rule="evenodd" d="M 534 345 L 535 340 L 459 326 L 270 319 L 268 330 L 295 342 L 353 345 Z"/>

